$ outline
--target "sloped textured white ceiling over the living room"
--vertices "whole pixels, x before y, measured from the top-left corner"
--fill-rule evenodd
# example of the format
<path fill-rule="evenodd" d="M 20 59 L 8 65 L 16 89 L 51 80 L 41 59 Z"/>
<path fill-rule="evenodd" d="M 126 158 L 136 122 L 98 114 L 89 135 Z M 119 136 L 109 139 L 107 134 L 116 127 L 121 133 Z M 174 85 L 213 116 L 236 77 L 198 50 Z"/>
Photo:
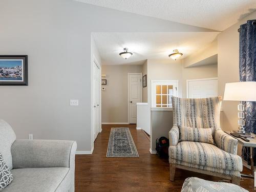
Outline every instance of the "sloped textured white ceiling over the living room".
<path fill-rule="evenodd" d="M 255 0 L 75 1 L 220 31 L 256 10 Z"/>

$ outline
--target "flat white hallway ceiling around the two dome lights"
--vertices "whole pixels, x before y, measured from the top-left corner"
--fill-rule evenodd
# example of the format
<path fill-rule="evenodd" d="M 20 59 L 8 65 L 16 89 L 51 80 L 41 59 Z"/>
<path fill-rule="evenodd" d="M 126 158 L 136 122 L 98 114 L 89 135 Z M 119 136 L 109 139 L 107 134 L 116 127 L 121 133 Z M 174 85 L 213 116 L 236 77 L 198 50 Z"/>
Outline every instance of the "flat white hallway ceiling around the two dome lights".
<path fill-rule="evenodd" d="M 170 59 L 168 55 L 178 49 L 184 59 L 205 49 L 219 32 L 172 33 L 92 33 L 102 65 L 142 65 L 145 59 Z M 133 55 L 127 60 L 120 57 L 123 48 Z"/>

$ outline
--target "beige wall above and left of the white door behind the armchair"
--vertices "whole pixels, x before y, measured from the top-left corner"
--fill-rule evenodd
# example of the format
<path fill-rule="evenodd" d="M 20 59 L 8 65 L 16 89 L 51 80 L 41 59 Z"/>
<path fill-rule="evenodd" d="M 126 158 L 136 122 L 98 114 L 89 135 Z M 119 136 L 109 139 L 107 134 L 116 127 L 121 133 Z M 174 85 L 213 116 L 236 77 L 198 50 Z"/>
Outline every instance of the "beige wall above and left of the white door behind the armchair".
<path fill-rule="evenodd" d="M 218 77 L 218 65 L 182 68 L 182 97 L 186 98 L 186 80 Z"/>

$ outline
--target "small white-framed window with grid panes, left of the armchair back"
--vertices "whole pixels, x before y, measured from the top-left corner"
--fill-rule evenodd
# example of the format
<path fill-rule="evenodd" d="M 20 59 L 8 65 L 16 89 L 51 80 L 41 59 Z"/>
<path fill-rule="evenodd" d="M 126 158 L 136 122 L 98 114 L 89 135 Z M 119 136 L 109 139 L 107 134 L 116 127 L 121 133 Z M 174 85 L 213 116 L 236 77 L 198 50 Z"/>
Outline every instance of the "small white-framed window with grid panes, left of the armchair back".
<path fill-rule="evenodd" d="M 178 81 L 152 81 L 152 107 L 171 108 L 172 96 L 177 96 Z"/>

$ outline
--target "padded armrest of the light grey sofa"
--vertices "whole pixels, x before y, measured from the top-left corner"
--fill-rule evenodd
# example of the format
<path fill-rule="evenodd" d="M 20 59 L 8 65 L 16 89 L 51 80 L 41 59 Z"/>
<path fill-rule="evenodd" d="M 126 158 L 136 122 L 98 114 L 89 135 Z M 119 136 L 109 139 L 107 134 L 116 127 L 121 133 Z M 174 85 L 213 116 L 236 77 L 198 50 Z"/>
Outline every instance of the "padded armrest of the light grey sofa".
<path fill-rule="evenodd" d="M 13 168 L 73 167 L 75 141 L 16 140 L 11 146 Z"/>

